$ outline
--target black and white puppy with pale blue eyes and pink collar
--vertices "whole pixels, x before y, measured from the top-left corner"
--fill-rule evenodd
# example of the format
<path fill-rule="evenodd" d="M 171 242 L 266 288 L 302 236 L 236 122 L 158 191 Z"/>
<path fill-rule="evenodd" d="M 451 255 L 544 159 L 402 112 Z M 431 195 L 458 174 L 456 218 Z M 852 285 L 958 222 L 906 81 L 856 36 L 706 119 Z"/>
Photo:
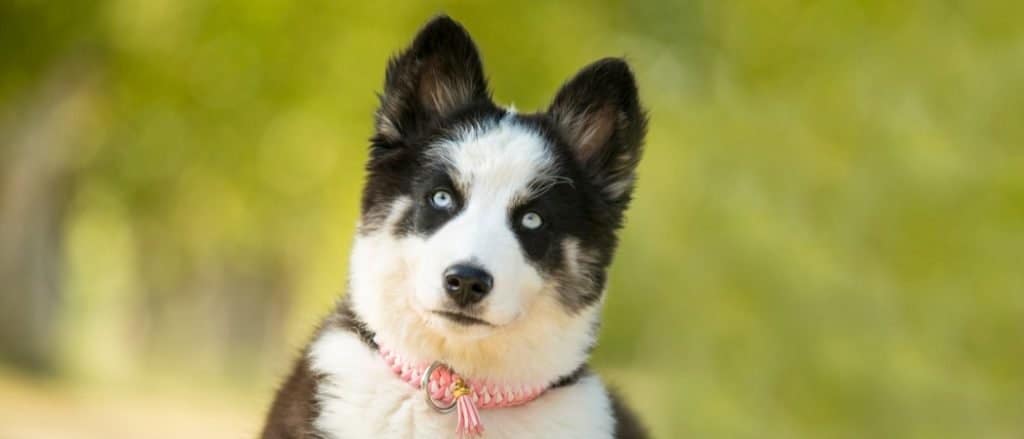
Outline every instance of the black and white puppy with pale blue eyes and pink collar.
<path fill-rule="evenodd" d="M 349 292 L 263 438 L 645 437 L 587 368 L 646 125 L 627 63 L 517 114 L 439 16 L 380 100 Z"/>

